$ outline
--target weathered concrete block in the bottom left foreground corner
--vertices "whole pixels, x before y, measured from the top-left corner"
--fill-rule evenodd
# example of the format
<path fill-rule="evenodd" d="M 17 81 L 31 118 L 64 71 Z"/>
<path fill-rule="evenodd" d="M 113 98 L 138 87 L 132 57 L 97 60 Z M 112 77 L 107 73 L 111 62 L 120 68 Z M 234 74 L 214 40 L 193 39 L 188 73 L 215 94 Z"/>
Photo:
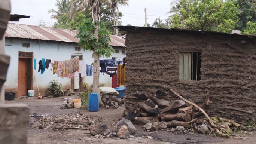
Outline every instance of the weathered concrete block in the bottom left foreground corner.
<path fill-rule="evenodd" d="M 0 144 L 27 144 L 28 106 L 0 104 L 0 111 Z"/>

